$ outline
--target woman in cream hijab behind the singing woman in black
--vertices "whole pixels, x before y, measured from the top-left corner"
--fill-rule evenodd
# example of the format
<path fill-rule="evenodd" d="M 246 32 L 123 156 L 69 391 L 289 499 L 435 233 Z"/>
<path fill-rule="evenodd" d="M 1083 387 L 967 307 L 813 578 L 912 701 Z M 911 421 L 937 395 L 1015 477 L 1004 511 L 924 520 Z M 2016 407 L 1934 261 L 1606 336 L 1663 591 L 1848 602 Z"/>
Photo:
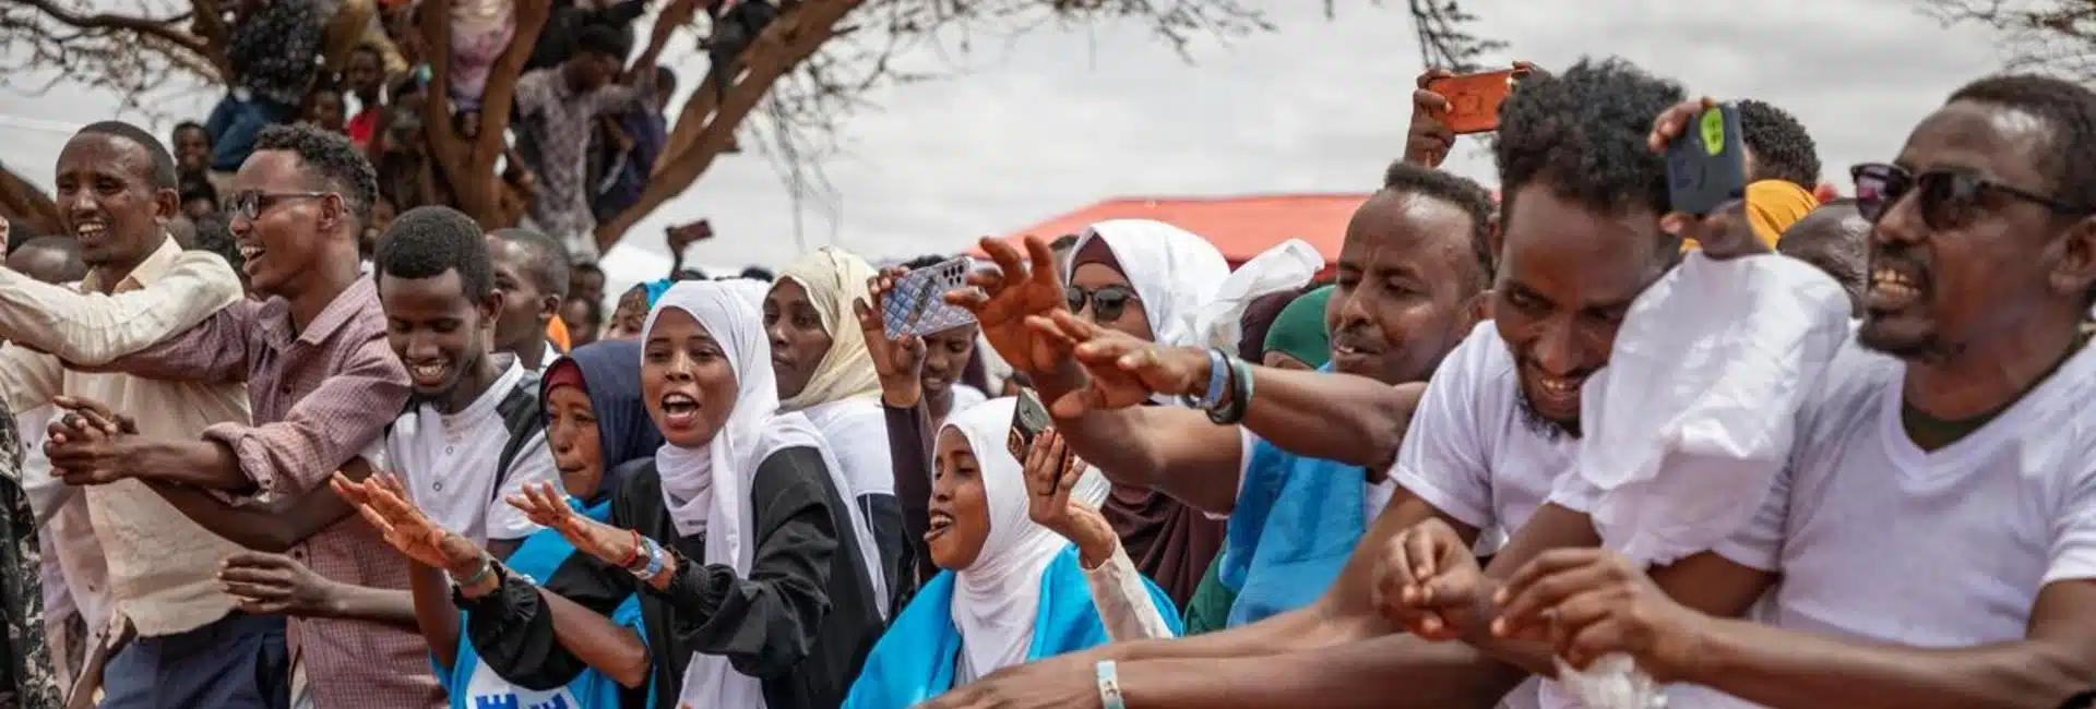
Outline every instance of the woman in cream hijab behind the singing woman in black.
<path fill-rule="evenodd" d="M 903 517 L 895 502 L 880 376 L 855 326 L 851 303 L 866 299 L 874 268 L 824 247 L 786 268 L 765 295 L 780 410 L 807 414 L 843 464 L 851 500 L 874 527 L 874 546 L 891 590 L 905 590 Z"/>

